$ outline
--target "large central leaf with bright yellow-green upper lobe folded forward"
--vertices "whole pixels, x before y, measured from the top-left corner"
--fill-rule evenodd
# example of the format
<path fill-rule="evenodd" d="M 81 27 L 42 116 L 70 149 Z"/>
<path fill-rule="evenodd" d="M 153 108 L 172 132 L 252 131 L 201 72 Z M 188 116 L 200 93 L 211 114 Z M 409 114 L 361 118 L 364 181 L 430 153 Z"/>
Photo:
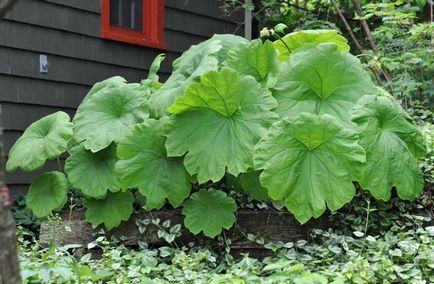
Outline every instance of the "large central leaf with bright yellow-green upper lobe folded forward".
<path fill-rule="evenodd" d="M 253 167 L 257 141 L 276 115 L 276 101 L 251 76 L 236 71 L 211 71 L 185 90 L 170 107 L 166 148 L 169 156 L 183 156 L 199 183 L 218 181 L 225 170 L 237 176 Z"/>

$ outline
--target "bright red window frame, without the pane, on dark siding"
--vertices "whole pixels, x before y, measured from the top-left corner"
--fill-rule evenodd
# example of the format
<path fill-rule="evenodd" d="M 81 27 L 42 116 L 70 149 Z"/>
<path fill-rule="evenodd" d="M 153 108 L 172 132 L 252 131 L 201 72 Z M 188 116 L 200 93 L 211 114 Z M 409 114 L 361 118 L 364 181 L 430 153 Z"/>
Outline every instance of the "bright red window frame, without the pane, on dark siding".
<path fill-rule="evenodd" d="M 158 49 L 164 42 L 164 0 L 142 0 L 142 32 L 110 25 L 110 0 L 101 1 L 101 37 Z"/>

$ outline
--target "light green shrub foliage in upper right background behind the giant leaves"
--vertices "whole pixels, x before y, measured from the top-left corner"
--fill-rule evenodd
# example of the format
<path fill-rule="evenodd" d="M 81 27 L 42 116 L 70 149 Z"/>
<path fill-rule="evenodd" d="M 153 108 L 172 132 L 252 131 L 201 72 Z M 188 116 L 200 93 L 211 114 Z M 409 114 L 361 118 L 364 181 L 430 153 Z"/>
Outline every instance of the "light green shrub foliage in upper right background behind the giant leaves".
<path fill-rule="evenodd" d="M 424 22 L 425 4 L 421 8 L 417 2 L 369 3 L 364 7 L 365 18 L 381 22 L 372 32 L 378 54 L 371 64 L 388 71 L 387 87 L 406 109 L 425 106 L 432 119 L 434 26 Z"/>

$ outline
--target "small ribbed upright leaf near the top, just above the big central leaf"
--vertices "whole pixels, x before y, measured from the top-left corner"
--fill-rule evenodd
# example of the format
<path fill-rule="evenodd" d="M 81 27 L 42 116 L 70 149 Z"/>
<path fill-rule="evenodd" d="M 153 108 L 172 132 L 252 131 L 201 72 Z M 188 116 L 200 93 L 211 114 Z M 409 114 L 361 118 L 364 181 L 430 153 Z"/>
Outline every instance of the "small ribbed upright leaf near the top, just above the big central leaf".
<path fill-rule="evenodd" d="M 271 41 L 256 39 L 247 44 L 240 44 L 232 49 L 225 61 L 225 66 L 244 75 L 253 76 L 256 81 L 267 86 L 275 83 L 279 63 L 277 52 Z"/>

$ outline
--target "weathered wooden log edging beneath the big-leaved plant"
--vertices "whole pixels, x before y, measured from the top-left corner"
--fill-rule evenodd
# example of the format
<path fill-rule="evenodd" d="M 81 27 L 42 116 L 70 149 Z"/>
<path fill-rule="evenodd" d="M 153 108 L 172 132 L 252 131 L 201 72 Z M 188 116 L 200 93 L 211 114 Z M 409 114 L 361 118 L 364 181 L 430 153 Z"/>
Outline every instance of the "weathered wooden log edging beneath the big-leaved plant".
<path fill-rule="evenodd" d="M 44 221 L 41 223 L 40 241 L 43 245 L 54 242 L 56 245 L 81 244 L 86 246 L 96 239 L 96 234 L 91 225 L 85 220 L 83 211 L 60 212 L 63 222 L 55 224 Z M 157 226 L 150 224 L 147 230 L 141 234 L 136 225 L 136 220 L 160 219 L 160 224 L 166 220 L 171 225 L 183 224 L 184 216 L 180 209 L 160 210 L 134 214 L 129 221 L 123 222 L 118 228 L 108 232 L 107 236 L 122 237 L 127 246 L 137 246 L 139 241 L 146 242 L 150 247 L 168 245 L 162 238 L 158 238 Z M 327 225 L 326 218 L 313 220 L 306 225 L 300 225 L 289 212 L 255 211 L 241 209 L 237 212 L 237 221 L 234 227 L 225 231 L 226 239 L 231 239 L 231 250 L 235 254 L 249 252 L 255 256 L 263 256 L 266 251 L 262 245 L 250 241 L 248 234 L 263 238 L 267 242 L 290 242 L 307 239 L 312 228 L 324 228 Z M 202 234 L 193 235 L 183 225 L 181 236 L 175 239 L 178 246 L 187 245 L 191 242 L 202 243 L 210 239 Z M 212 240 L 211 245 L 217 246 L 217 241 Z M 265 253 L 266 254 L 266 253 Z"/>

